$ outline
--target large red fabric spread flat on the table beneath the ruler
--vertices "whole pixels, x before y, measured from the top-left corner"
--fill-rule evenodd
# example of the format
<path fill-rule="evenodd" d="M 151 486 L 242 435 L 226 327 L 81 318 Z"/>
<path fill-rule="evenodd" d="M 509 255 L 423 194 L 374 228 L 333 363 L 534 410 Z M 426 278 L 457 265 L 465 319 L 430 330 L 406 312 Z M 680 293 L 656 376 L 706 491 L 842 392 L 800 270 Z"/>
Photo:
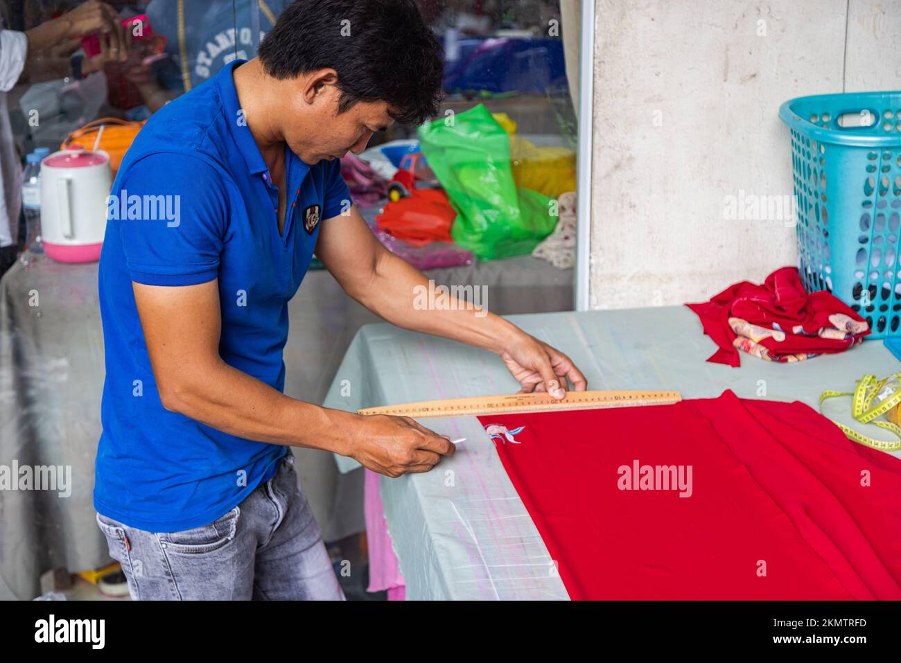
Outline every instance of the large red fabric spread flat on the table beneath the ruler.
<path fill-rule="evenodd" d="M 573 599 L 901 599 L 901 460 L 805 404 L 726 391 L 479 421 L 514 431 L 497 453 Z M 691 466 L 690 496 L 621 489 L 635 460 Z"/>

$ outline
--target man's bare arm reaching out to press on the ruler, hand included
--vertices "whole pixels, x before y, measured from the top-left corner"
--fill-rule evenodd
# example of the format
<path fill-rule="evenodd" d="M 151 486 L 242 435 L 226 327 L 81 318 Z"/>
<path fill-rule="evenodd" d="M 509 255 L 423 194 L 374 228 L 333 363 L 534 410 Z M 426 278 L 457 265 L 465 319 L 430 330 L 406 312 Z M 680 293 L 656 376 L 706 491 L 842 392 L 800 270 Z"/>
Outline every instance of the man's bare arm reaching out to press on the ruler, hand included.
<path fill-rule="evenodd" d="M 386 250 L 355 206 L 351 205 L 349 214 L 323 223 L 316 256 L 348 295 L 388 322 L 500 355 L 523 392 L 548 391 L 562 398 L 567 378 L 577 390 L 586 388 L 585 377 L 566 355 L 513 322 L 464 303 L 434 310 L 416 308 L 417 291 L 428 288 L 428 279 Z"/>

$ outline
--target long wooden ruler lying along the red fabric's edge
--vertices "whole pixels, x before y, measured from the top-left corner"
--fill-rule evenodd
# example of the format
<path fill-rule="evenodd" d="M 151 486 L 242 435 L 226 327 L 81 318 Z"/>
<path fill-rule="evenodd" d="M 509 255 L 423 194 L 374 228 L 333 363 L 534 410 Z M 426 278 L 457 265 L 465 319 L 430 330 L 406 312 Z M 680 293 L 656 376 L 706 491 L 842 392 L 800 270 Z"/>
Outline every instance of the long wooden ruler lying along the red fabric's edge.
<path fill-rule="evenodd" d="M 482 414 L 595 410 L 602 407 L 633 407 L 678 403 L 678 391 L 568 391 L 562 401 L 548 394 L 511 394 L 451 398 L 358 410 L 359 414 L 394 414 L 405 417 L 461 417 Z"/>

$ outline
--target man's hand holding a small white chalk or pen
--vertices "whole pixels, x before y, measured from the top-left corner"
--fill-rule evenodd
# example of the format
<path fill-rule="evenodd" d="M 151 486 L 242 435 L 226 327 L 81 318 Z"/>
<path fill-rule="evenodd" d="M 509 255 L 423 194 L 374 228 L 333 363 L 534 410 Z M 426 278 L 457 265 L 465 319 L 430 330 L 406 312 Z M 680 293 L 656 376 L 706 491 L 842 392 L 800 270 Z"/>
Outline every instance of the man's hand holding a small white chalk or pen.
<path fill-rule="evenodd" d="M 359 426 L 353 430 L 350 458 L 386 477 L 428 472 L 441 456 L 453 456 L 456 451 L 451 440 L 410 417 L 360 416 Z"/>

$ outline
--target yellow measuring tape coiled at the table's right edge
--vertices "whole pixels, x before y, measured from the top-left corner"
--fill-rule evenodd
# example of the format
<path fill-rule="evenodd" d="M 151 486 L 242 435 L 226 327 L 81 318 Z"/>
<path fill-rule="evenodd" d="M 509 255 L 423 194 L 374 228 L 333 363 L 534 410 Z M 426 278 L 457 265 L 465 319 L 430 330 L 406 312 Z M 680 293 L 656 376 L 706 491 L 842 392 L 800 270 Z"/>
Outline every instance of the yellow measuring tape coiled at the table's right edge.
<path fill-rule="evenodd" d="M 873 423 L 879 428 L 895 433 L 898 440 L 877 440 L 842 423 L 834 420 L 833 423 L 855 442 L 860 442 L 860 444 L 865 444 L 880 451 L 899 451 L 901 450 L 901 426 L 897 424 L 898 410 L 896 409 L 898 404 L 901 403 L 901 382 L 899 382 L 899 377 L 901 377 L 901 373 L 894 373 L 888 377 L 883 377 L 881 380 L 876 376 L 864 376 L 858 380 L 857 388 L 852 392 L 824 391 L 820 395 L 820 413 L 823 413 L 823 402 L 827 398 L 851 396 L 851 416 L 854 417 L 855 421 Z M 891 384 L 892 382 L 894 384 Z M 877 396 L 882 393 L 886 386 L 893 388 L 894 391 L 882 400 L 878 400 Z M 873 404 L 874 402 L 876 402 L 875 405 Z M 877 419 L 883 414 L 887 415 L 889 421 Z"/>

